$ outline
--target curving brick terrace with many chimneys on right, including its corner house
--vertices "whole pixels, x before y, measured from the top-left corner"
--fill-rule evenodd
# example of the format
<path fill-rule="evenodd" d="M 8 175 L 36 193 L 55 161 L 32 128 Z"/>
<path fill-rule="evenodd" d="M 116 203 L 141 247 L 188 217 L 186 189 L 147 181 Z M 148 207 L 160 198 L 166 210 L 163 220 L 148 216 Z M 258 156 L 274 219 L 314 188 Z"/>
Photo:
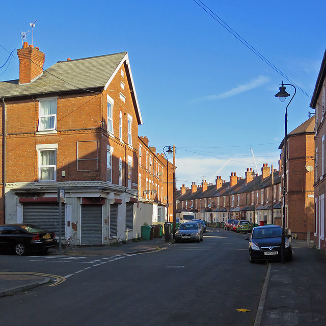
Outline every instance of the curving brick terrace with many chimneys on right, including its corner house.
<path fill-rule="evenodd" d="M 285 228 L 298 239 L 306 239 L 315 230 L 313 210 L 314 172 L 314 116 L 291 131 L 287 136 L 287 171 L 285 195 Z M 283 209 L 283 150 L 279 169 L 271 171 L 268 164 L 261 174 L 248 168 L 245 177 L 236 172 L 230 181 L 216 177 L 215 183 L 203 180 L 201 185 L 181 186 L 178 191 L 177 213 L 192 211 L 196 218 L 207 222 L 224 222 L 226 219 L 260 221 L 282 225 Z"/>

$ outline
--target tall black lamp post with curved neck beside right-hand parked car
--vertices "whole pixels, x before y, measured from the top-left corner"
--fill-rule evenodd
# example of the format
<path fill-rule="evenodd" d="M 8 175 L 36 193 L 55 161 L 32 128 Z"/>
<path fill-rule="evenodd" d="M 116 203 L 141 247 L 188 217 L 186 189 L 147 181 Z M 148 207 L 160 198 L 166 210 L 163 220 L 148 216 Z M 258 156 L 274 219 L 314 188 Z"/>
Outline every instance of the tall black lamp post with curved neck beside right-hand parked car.
<path fill-rule="evenodd" d="M 282 212 L 282 242 L 281 242 L 281 261 L 282 263 L 284 263 L 285 261 L 285 193 L 286 193 L 286 152 L 287 152 L 287 107 L 289 106 L 289 104 L 291 103 L 295 93 L 296 93 L 296 88 L 294 85 L 292 84 L 280 84 L 280 91 L 275 94 L 276 97 L 278 97 L 280 99 L 281 102 L 284 102 L 285 99 L 290 96 L 290 94 L 288 94 L 285 91 L 285 85 L 286 86 L 292 86 L 294 88 L 294 94 L 291 98 L 291 100 L 289 101 L 289 103 L 286 105 L 286 109 L 285 109 L 285 132 L 284 132 L 284 153 L 283 153 L 283 212 Z"/>

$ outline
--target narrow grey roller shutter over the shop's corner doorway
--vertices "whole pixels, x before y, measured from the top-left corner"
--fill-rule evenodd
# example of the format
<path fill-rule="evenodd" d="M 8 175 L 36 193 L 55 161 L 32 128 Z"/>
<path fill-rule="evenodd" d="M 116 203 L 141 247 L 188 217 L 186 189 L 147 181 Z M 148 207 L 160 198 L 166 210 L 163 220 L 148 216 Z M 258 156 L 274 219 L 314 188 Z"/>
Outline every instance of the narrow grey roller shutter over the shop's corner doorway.
<path fill-rule="evenodd" d="M 82 244 L 102 244 L 102 205 L 82 205 Z"/>

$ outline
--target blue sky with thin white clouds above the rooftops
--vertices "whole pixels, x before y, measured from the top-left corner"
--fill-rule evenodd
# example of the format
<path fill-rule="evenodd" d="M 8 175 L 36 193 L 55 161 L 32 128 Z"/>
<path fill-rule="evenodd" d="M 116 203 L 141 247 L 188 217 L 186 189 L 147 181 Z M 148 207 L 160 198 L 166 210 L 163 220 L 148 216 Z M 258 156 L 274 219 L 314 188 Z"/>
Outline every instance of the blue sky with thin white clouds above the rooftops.
<path fill-rule="evenodd" d="M 202 2 L 312 95 L 326 45 L 324 0 Z M 278 168 L 288 101 L 274 95 L 282 80 L 289 82 L 194 0 L 16 1 L 2 4 L 2 13 L 0 45 L 9 52 L 37 19 L 34 45 L 45 53 L 44 68 L 128 51 L 144 121 L 139 135 L 157 152 L 175 144 L 178 187 L 214 182 L 216 175 L 229 181 L 231 172 L 244 176 L 255 167 L 251 148 L 259 172 L 263 163 Z M 9 55 L 4 48 L 0 66 Z M 17 79 L 18 71 L 12 58 L 0 80 Z M 289 132 L 308 119 L 310 100 L 297 90 Z"/>

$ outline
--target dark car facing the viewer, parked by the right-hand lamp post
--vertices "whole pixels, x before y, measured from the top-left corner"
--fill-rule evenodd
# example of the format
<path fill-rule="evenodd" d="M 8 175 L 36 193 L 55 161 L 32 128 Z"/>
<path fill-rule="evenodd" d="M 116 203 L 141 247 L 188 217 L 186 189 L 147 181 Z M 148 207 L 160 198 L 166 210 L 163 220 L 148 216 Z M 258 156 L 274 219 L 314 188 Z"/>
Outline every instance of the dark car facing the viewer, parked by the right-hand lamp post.
<path fill-rule="evenodd" d="M 292 260 L 292 248 L 290 241 L 291 235 L 285 238 L 285 259 Z M 249 240 L 249 257 L 250 262 L 257 260 L 280 260 L 281 259 L 281 242 L 282 228 L 277 225 L 257 226 L 253 228 Z"/>

